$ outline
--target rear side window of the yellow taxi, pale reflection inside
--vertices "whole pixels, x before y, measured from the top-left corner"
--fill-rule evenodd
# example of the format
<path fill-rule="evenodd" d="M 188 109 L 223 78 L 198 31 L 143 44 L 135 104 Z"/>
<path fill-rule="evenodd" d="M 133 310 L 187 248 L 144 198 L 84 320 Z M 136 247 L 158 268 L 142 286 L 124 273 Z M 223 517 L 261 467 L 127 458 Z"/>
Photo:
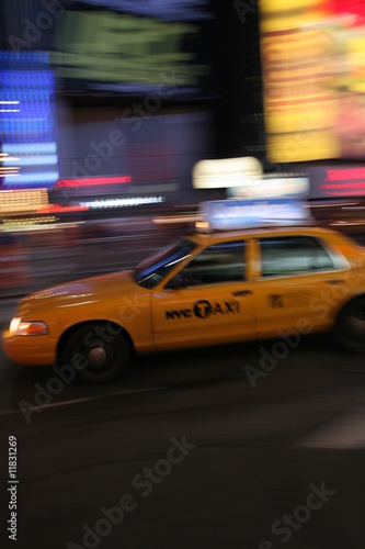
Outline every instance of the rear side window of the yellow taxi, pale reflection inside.
<path fill-rule="evenodd" d="M 263 277 L 334 269 L 327 250 L 310 236 L 261 238 L 260 246 Z"/>

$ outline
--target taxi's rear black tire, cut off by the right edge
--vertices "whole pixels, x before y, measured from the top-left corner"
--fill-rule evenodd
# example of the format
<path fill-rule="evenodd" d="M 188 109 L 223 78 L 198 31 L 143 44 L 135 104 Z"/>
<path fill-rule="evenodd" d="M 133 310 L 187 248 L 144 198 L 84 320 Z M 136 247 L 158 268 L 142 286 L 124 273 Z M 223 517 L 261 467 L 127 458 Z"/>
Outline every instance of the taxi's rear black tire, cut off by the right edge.
<path fill-rule="evenodd" d="M 347 349 L 365 352 L 365 296 L 356 298 L 341 311 L 335 335 Z"/>

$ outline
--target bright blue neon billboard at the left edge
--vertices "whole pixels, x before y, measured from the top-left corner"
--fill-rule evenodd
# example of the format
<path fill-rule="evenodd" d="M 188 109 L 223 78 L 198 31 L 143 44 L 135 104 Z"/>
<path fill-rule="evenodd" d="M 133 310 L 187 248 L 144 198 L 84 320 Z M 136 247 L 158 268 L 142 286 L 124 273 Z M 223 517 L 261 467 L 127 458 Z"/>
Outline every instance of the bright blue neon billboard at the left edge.
<path fill-rule="evenodd" d="M 1 150 L 19 158 L 2 164 L 21 167 L 19 175 L 2 178 L 4 188 L 52 188 L 57 182 L 55 80 L 49 67 L 47 52 L 0 51 L 0 100 L 19 101 L 19 112 L 10 112 L 11 107 L 0 112 Z"/>

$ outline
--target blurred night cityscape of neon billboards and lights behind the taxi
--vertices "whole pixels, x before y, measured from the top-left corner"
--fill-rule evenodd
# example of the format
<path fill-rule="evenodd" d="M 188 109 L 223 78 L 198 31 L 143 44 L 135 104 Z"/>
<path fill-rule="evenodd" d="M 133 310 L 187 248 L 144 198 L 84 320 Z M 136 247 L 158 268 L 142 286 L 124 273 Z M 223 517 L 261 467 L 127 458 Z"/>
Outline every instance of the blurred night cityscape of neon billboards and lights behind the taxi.
<path fill-rule="evenodd" d="M 194 186 L 203 159 L 306 177 L 317 222 L 364 244 L 365 4 L 292 4 L 0 1 L 1 298 L 192 228 L 231 178 Z"/>

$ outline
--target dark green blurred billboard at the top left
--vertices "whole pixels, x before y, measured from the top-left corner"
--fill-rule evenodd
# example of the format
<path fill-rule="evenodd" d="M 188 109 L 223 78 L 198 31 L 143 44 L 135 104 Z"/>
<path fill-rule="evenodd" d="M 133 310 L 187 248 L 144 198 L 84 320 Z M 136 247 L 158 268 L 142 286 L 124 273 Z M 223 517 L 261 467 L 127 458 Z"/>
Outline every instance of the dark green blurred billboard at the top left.
<path fill-rule="evenodd" d="M 55 25 L 52 61 L 68 93 L 158 93 L 164 100 L 215 96 L 212 0 L 76 0 Z M 172 96 L 164 92 L 174 81 Z"/>

